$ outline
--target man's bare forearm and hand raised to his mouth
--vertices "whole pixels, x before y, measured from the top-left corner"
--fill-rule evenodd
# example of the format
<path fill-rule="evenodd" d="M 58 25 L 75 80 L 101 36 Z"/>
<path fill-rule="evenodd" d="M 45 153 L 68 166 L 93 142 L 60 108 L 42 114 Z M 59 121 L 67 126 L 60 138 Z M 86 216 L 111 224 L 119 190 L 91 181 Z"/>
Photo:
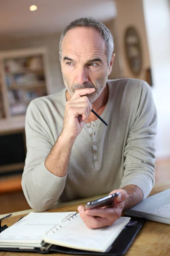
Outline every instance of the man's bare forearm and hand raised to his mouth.
<path fill-rule="evenodd" d="M 92 108 L 88 97 L 83 95 L 94 93 L 94 91 L 95 88 L 76 90 L 65 105 L 62 133 L 45 160 L 46 169 L 58 177 L 65 177 L 67 174 L 71 148 Z"/>

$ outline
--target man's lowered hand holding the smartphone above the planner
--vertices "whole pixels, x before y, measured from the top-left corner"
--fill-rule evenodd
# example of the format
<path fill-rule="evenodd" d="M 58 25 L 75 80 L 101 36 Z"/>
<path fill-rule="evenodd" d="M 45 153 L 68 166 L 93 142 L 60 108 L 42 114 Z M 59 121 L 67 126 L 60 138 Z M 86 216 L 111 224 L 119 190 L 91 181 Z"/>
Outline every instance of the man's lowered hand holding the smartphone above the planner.
<path fill-rule="evenodd" d="M 85 210 L 82 205 L 78 207 L 80 217 L 89 228 L 109 226 L 114 223 L 122 214 L 127 199 L 127 192 L 124 189 L 113 190 L 110 194 L 119 192 L 120 195 L 109 207 Z"/>

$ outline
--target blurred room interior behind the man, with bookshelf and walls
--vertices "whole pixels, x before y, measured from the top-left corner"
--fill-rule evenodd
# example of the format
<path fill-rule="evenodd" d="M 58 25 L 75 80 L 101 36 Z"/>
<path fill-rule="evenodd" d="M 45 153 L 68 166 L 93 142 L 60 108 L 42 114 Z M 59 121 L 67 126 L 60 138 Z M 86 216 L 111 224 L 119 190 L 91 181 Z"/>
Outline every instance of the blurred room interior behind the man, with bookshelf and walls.
<path fill-rule="evenodd" d="M 156 184 L 170 182 L 170 0 L 0 0 L 0 214 L 30 208 L 21 188 L 26 109 L 64 87 L 59 38 L 79 17 L 111 30 L 110 79 L 150 84 L 158 112 Z"/>

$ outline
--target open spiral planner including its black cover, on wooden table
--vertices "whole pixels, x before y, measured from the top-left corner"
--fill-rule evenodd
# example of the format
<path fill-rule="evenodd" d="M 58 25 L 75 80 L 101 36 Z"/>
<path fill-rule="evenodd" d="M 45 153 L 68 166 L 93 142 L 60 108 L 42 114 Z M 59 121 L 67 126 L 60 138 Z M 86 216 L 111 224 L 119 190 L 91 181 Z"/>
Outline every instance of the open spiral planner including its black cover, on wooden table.
<path fill-rule="evenodd" d="M 76 212 L 31 212 L 0 233 L 0 250 L 121 255 L 130 246 L 144 220 L 135 221 L 135 225 L 130 223 L 130 217 L 120 217 L 111 226 L 92 230 Z M 129 224 L 128 232 L 126 227 Z M 120 246 L 122 239 L 124 245 Z M 114 241 L 118 246 L 115 247 Z"/>

